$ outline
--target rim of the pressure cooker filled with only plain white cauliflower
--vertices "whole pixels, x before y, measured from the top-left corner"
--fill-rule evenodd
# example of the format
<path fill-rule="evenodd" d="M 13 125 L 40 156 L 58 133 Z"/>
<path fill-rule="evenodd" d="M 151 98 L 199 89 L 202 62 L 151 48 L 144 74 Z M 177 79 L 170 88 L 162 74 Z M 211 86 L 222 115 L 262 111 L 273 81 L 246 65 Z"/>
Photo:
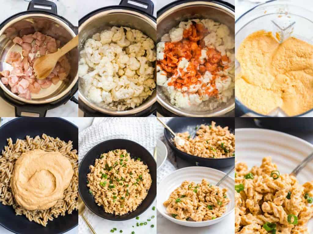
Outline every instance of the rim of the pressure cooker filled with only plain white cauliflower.
<path fill-rule="evenodd" d="M 82 17 L 79 20 L 78 23 L 78 27 L 79 27 L 79 31 L 81 30 L 80 27 L 83 23 L 85 23 L 90 17 L 93 17 L 101 12 L 105 12 L 105 11 L 109 11 L 109 10 L 127 10 L 127 11 L 134 11 L 137 12 L 138 14 L 144 15 L 145 17 L 148 17 L 150 20 L 152 20 L 153 23 L 155 23 L 155 27 L 156 27 L 156 17 L 154 17 L 153 15 L 150 15 L 144 11 L 132 8 L 132 7 L 124 7 L 124 6 L 109 6 L 109 7 L 101 7 L 98 8 L 88 14 L 86 14 L 84 17 Z M 97 105 L 95 105 L 94 103 L 90 102 L 85 95 L 82 94 L 82 92 L 80 91 L 80 89 L 78 90 L 78 96 L 79 96 L 79 100 L 81 100 L 85 105 L 87 105 L 89 108 L 103 113 L 105 115 L 112 115 L 112 116 L 126 116 L 126 115 L 133 115 L 139 112 L 142 112 L 143 110 L 146 110 L 148 108 L 150 108 L 153 104 L 156 103 L 156 99 L 157 99 L 157 91 L 155 88 L 155 91 L 153 91 L 152 95 L 149 96 L 146 100 L 143 101 L 143 103 L 133 109 L 129 109 L 129 110 L 122 110 L 122 111 L 117 111 L 117 110 L 110 110 L 110 109 L 105 109 L 102 107 L 99 107 Z M 152 114 L 152 113 L 151 113 Z"/>

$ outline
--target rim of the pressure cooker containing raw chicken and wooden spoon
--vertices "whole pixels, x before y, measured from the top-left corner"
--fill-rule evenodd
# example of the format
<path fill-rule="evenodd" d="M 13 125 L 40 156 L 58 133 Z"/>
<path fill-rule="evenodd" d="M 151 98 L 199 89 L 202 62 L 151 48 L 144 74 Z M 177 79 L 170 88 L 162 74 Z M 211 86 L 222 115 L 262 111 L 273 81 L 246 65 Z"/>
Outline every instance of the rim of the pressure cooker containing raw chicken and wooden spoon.
<path fill-rule="evenodd" d="M 44 12 L 44 11 L 23 11 L 23 12 L 19 12 L 16 13 L 10 17 L 8 17 L 7 19 L 5 19 L 3 22 L 0 23 L 0 31 L 2 30 L 2 28 L 10 23 L 12 20 L 21 17 L 21 16 L 26 16 L 29 14 L 40 14 L 40 15 L 49 15 L 50 17 L 55 17 L 57 19 L 59 19 L 61 22 L 63 22 L 65 25 L 67 25 L 70 29 L 71 32 L 69 32 L 70 34 L 72 34 L 73 37 L 75 37 L 76 32 L 75 32 L 75 26 L 67 19 L 65 19 L 64 17 L 51 13 L 51 12 Z M 3 96 L 5 96 L 4 93 L 6 93 L 8 96 L 10 96 L 12 99 L 14 99 L 14 102 L 16 103 L 22 103 L 24 105 L 54 105 L 55 103 L 58 102 L 58 100 L 64 101 L 64 97 L 66 97 L 67 95 L 73 93 L 73 89 L 74 89 L 74 94 L 77 92 L 78 90 L 78 85 L 77 87 L 75 87 L 75 84 L 78 82 L 78 71 L 76 76 L 73 78 L 72 82 L 69 84 L 69 86 L 67 88 L 65 88 L 61 93 L 59 93 L 58 95 L 55 95 L 53 98 L 51 98 L 52 100 L 45 100 L 45 101 L 34 101 L 34 100 L 26 100 L 24 98 L 20 98 L 18 97 L 18 95 L 12 93 L 10 90 L 8 90 L 8 88 L 2 84 L 2 82 L 0 82 L 0 88 L 1 88 L 1 92 L 3 91 Z M 4 86 L 4 88 L 2 87 Z M 2 96 L 2 95 L 1 95 Z M 5 100 L 5 99 L 4 99 Z M 65 100 L 67 100 L 67 98 L 65 98 Z M 5 100 L 7 102 L 7 100 Z M 49 108 L 51 109 L 51 108 Z"/>

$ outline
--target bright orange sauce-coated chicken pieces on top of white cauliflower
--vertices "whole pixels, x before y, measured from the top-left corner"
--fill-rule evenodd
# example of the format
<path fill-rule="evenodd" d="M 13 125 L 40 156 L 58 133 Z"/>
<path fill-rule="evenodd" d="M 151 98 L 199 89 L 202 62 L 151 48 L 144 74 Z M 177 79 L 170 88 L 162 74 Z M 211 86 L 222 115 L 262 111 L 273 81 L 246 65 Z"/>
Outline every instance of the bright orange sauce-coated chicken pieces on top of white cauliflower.
<path fill-rule="evenodd" d="M 204 93 L 210 97 L 218 96 L 218 90 L 215 87 L 216 72 L 227 69 L 223 66 L 223 62 L 229 61 L 226 55 L 212 47 L 205 46 L 203 38 L 208 35 L 208 30 L 201 23 L 193 23 L 190 27 L 183 31 L 183 40 L 179 42 L 166 42 L 164 48 L 164 59 L 157 61 L 162 70 L 167 72 L 168 77 L 172 77 L 167 85 L 174 86 L 177 89 L 189 87 L 191 85 L 201 84 L 201 76 L 209 71 L 213 77 L 210 86 L 203 84 L 201 89 L 194 93 L 203 95 Z M 201 64 L 201 50 L 207 50 L 206 62 Z M 179 62 L 185 58 L 189 61 L 187 71 L 182 68 L 177 71 Z M 203 61 L 202 61 L 203 62 Z M 179 73 L 181 76 L 179 76 Z M 190 93 L 190 91 L 189 91 Z"/>

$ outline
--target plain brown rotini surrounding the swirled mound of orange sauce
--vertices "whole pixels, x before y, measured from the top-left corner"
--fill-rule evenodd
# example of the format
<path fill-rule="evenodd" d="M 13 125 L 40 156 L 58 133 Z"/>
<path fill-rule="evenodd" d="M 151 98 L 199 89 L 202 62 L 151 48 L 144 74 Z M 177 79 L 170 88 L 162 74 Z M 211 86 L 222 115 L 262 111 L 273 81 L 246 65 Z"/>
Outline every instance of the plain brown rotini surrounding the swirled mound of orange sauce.
<path fill-rule="evenodd" d="M 77 150 L 73 150 L 72 141 L 68 143 L 42 134 L 42 137 L 36 136 L 31 138 L 26 136 L 26 139 L 17 139 L 13 143 L 12 139 L 7 139 L 8 145 L 2 150 L 0 155 L 0 201 L 3 205 L 12 206 L 16 215 L 25 215 L 29 221 L 34 221 L 46 227 L 48 220 L 65 216 L 66 212 L 71 214 L 77 209 L 78 198 L 78 155 Z M 41 149 L 46 152 L 59 152 L 65 156 L 71 163 L 74 174 L 69 183 L 69 186 L 64 190 L 62 199 L 59 199 L 53 207 L 45 210 L 26 210 L 18 205 L 14 199 L 11 189 L 11 177 L 14 170 L 16 160 L 26 151 Z"/>

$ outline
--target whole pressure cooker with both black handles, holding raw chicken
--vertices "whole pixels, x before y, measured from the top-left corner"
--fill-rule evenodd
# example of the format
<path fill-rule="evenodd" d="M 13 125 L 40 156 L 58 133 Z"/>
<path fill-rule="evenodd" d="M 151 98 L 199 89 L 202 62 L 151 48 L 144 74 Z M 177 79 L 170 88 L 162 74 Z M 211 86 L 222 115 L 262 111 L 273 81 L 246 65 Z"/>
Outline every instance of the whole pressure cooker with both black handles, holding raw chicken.
<path fill-rule="evenodd" d="M 51 9 L 37 8 L 40 6 Z M 57 15 L 57 7 L 53 2 L 46 0 L 33 0 L 29 3 L 25 12 L 15 14 L 0 25 L 0 59 L 5 61 L 8 52 L 14 50 L 13 38 L 29 33 L 42 32 L 61 41 L 61 45 L 66 44 L 78 33 L 78 28 L 74 27 L 68 20 Z M 64 104 L 68 100 L 78 101 L 74 98 L 78 90 L 78 49 L 74 48 L 68 53 L 71 71 L 68 79 L 59 85 L 53 85 L 47 90 L 41 90 L 39 95 L 27 100 L 12 93 L 8 87 L 0 82 L 0 96 L 11 105 L 15 106 L 16 116 L 33 115 L 43 117 L 47 110 Z M 0 63 L 0 70 L 6 70 L 7 64 Z"/>

